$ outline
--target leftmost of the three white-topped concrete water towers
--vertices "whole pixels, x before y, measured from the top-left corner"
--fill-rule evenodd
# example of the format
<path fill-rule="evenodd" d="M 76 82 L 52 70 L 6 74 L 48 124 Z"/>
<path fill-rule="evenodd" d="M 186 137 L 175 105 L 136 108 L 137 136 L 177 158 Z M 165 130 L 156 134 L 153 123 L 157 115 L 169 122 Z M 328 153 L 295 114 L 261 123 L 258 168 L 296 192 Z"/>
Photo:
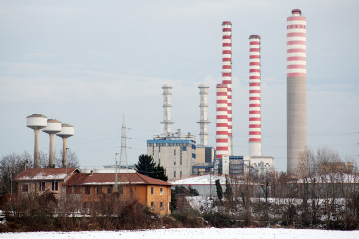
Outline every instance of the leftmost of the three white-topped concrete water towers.
<path fill-rule="evenodd" d="M 34 168 L 39 168 L 39 132 L 47 126 L 47 117 L 42 114 L 32 114 L 26 117 L 26 126 L 35 132 Z"/>

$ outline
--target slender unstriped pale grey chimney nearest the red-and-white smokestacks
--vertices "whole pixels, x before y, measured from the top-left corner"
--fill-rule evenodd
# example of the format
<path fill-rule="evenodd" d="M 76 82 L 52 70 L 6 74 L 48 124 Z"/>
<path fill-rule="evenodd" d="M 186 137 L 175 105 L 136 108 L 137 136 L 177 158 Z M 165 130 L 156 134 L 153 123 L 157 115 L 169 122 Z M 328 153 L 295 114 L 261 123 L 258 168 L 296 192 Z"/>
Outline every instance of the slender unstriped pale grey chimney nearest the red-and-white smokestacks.
<path fill-rule="evenodd" d="M 207 84 L 200 84 L 198 86 L 200 89 L 200 121 L 197 122 L 200 124 L 200 145 L 208 145 L 208 91 L 209 88 Z"/>

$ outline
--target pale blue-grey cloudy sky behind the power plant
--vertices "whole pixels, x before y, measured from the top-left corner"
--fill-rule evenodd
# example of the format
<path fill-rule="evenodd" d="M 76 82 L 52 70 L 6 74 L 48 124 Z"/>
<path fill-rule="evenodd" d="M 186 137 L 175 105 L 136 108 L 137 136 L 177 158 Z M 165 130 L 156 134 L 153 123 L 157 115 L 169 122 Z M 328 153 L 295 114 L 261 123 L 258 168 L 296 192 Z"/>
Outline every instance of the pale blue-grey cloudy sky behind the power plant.
<path fill-rule="evenodd" d="M 359 161 L 359 15 L 356 0 L 1 1 L 0 157 L 34 153 L 33 113 L 75 127 L 81 168 L 115 163 L 125 116 L 129 164 L 161 132 L 162 84 L 172 84 L 172 131 L 199 142 L 199 89 L 209 85 L 208 144 L 215 147 L 215 85 L 222 22 L 232 21 L 233 145 L 248 154 L 250 35 L 261 36 L 262 155 L 286 171 L 286 17 L 307 17 L 308 147 Z M 62 150 L 60 137 L 55 148 Z M 40 133 L 40 150 L 49 138 Z M 123 163 L 122 163 L 123 164 Z"/>

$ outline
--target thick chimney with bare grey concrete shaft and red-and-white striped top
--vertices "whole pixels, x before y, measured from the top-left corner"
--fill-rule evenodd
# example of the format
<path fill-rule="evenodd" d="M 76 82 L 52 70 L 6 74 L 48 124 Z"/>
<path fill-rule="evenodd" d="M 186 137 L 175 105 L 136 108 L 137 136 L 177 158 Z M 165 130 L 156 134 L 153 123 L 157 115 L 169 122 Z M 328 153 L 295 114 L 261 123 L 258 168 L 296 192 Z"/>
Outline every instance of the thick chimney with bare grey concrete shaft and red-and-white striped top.
<path fill-rule="evenodd" d="M 307 150 L 307 20 L 299 9 L 287 17 L 287 173 Z"/>

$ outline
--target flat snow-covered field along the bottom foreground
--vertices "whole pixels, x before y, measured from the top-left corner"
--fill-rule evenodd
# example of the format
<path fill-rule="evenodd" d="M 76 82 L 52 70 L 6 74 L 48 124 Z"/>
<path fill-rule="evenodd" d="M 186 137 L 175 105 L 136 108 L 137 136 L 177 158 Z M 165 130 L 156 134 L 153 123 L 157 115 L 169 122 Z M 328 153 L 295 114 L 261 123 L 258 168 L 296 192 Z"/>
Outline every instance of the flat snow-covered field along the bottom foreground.
<path fill-rule="evenodd" d="M 137 231 L 81 231 L 81 232 L 23 232 L 23 233 L 0 233 L 4 239 L 87 239 L 87 238 L 303 238 L 303 239 L 346 239 L 359 238 L 359 231 L 329 231 L 311 229 L 282 229 L 282 228 L 176 228 L 158 230 Z"/>

